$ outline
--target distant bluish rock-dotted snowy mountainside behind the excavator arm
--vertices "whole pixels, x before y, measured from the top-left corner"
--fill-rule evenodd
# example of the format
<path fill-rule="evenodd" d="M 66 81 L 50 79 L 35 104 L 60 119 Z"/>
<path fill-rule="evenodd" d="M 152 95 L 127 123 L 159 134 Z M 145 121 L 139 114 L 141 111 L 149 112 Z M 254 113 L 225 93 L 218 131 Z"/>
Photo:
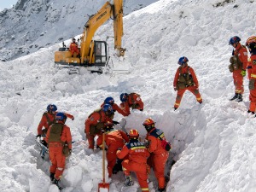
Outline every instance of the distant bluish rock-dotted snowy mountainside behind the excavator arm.
<path fill-rule="evenodd" d="M 142 9 L 158 0 L 124 0 L 124 14 Z M 13 9 L 0 12 L 0 60 L 21 55 L 73 38 L 83 31 L 90 15 L 106 0 L 19 0 Z M 113 3 L 113 0 L 109 0 Z"/>

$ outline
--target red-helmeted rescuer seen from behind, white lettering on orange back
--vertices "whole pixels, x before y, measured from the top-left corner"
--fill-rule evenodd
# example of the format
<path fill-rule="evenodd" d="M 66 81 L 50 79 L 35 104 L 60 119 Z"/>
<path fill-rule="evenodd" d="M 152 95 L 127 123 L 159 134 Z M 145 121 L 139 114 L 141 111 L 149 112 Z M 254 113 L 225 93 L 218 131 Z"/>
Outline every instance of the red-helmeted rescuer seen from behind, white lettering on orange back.
<path fill-rule="evenodd" d="M 124 159 L 126 155 L 129 156 L 128 160 L 123 160 L 122 162 L 125 185 L 131 186 L 133 184 L 131 172 L 135 172 L 142 191 L 148 192 L 148 149 L 144 143 L 138 141 L 139 133 L 137 130 L 129 131 L 128 137 L 130 139 L 129 143 L 126 143 L 123 148 L 119 148 L 117 151 L 119 159 Z"/>

